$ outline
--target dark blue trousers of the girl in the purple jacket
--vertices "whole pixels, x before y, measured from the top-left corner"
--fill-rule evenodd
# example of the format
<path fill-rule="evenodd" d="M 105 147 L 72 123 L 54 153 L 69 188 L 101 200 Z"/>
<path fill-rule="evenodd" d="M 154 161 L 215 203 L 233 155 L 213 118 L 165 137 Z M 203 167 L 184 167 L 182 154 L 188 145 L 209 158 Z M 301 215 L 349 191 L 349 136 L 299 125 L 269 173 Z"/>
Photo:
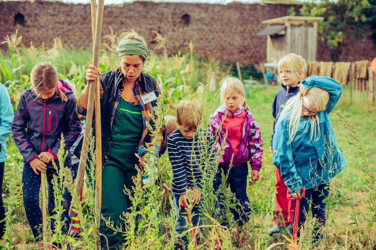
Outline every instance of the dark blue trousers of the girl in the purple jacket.
<path fill-rule="evenodd" d="M 237 204 L 235 207 L 232 207 L 231 211 L 237 225 L 241 227 L 244 223 L 248 222 L 249 214 L 251 213 L 251 208 L 247 205 L 247 203 L 249 203 L 247 196 L 248 164 L 247 162 L 243 163 L 237 168 L 229 168 L 224 165 L 219 165 L 213 183 L 214 193 L 217 193 L 219 186 L 222 183 L 222 172 L 224 173 L 224 176 L 226 176 L 229 171 L 230 173 L 229 177 L 227 178 L 226 185 L 227 187 L 230 186 L 232 193 L 235 193 L 235 196 L 238 199 L 237 203 L 240 202 L 240 205 Z M 220 217 L 224 220 L 221 225 L 228 226 L 229 223 L 227 222 L 226 218 L 224 218 L 223 214 L 224 195 L 223 193 L 217 193 L 217 196 L 218 201 L 216 208 L 220 210 Z M 240 211 L 240 213 L 238 211 Z"/>

